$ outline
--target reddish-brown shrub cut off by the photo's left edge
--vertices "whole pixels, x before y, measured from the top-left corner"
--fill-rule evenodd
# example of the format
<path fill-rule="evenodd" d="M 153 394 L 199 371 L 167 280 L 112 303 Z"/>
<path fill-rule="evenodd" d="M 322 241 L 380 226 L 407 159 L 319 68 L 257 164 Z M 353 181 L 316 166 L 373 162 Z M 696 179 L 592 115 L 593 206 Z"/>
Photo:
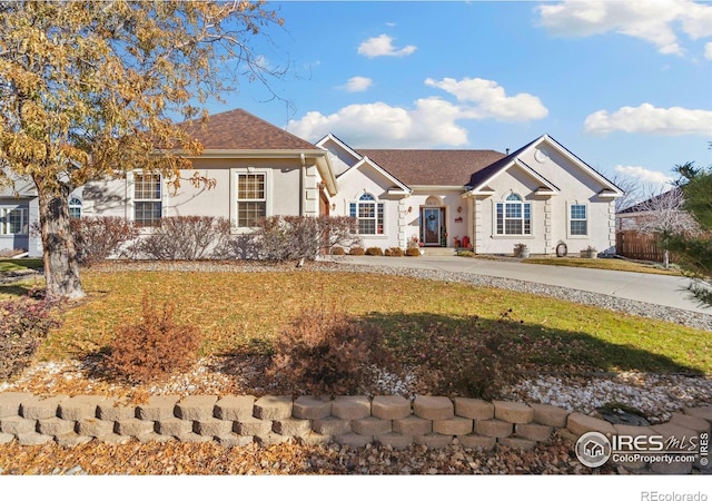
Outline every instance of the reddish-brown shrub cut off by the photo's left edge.
<path fill-rule="evenodd" d="M 0 380 L 27 367 L 40 342 L 60 325 L 52 304 L 41 296 L 30 291 L 19 299 L 0 302 Z"/>

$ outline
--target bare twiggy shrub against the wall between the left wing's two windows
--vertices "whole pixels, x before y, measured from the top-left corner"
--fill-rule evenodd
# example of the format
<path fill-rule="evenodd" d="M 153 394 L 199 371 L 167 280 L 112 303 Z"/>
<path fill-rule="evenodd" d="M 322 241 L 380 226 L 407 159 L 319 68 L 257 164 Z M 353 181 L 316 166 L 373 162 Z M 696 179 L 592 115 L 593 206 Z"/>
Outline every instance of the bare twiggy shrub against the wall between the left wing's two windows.
<path fill-rule="evenodd" d="M 137 254 L 154 259 L 196 261 L 217 256 L 230 239 L 230 222 L 225 217 L 175 216 L 162 217 L 134 245 Z"/>

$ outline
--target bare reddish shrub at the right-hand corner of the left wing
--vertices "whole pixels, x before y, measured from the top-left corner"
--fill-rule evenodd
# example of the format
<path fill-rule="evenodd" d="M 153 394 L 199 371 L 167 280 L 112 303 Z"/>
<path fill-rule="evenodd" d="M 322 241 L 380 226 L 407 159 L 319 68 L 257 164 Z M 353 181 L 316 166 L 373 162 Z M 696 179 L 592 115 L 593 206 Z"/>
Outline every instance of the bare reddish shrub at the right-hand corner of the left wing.
<path fill-rule="evenodd" d="M 253 244 L 260 259 L 314 259 L 335 246 L 360 243 L 356 219 L 332 216 L 271 216 L 257 220 Z"/>

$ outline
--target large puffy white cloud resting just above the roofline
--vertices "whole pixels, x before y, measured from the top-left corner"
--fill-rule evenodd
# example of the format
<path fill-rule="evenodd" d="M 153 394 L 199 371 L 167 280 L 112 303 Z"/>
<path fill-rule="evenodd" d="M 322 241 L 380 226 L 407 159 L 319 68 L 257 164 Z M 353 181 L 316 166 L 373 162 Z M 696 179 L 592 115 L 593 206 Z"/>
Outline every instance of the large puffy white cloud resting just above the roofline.
<path fill-rule="evenodd" d="M 379 101 L 349 105 L 332 115 L 309 111 L 289 120 L 287 130 L 309 141 L 334 132 L 360 148 L 462 146 L 467 132 L 455 122 L 457 117 L 457 107 L 438 98 L 419 99 L 415 109 Z"/>

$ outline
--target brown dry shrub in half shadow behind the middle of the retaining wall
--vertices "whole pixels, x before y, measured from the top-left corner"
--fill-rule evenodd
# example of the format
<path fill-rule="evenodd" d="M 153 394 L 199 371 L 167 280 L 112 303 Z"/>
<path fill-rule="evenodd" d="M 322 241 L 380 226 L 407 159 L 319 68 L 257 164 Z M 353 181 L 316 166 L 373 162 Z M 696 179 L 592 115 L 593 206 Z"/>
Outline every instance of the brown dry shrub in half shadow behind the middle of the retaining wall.
<path fill-rule="evenodd" d="M 306 310 L 274 343 L 268 375 L 295 393 L 357 394 L 368 384 L 366 367 L 389 366 L 383 334 L 337 311 Z"/>

